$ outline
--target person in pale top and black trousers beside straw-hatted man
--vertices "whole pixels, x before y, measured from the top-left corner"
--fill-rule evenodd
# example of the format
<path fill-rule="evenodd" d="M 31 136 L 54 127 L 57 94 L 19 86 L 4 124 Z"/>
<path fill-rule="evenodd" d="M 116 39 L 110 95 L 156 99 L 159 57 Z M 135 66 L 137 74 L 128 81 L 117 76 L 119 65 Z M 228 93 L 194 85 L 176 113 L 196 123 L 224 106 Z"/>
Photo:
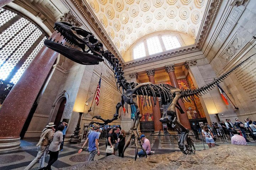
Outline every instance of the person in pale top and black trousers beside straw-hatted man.
<path fill-rule="evenodd" d="M 44 168 L 38 169 L 38 170 L 51 170 L 51 166 L 54 162 L 56 162 L 56 160 L 59 157 L 59 149 L 60 149 L 60 145 L 63 141 L 63 133 L 62 131 L 64 130 L 65 125 L 60 124 L 58 127 L 58 131 L 55 132 L 54 136 L 53 136 L 53 140 L 50 143 L 49 146 L 49 154 L 50 154 L 50 159 L 48 161 L 48 165 Z"/>

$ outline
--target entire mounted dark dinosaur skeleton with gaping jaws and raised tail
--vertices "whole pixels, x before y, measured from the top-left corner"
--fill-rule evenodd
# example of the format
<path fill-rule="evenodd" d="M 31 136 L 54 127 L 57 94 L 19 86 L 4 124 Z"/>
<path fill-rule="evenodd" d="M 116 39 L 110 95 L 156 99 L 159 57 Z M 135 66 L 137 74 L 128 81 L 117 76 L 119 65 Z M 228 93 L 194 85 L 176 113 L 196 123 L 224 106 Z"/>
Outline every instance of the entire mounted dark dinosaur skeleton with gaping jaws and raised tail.
<path fill-rule="evenodd" d="M 121 102 L 117 103 L 116 113 L 114 114 L 112 119 L 103 119 L 101 118 L 101 116 L 94 116 L 92 119 L 96 118 L 102 120 L 103 123 L 92 121 L 90 124 L 95 123 L 104 126 L 108 123 L 111 123 L 112 121 L 118 119 L 119 108 L 125 106 L 125 103 L 129 105 L 133 104 L 136 108 L 135 119 L 132 122 L 132 126 L 129 130 L 129 137 L 124 145 L 123 153 L 128 147 L 132 137 L 134 137 L 136 147 L 135 160 L 138 155 L 138 142 L 142 147 L 139 134 L 137 131 L 140 118 L 142 117 L 142 115 L 140 114 L 140 109 L 137 104 L 137 96 L 142 96 L 143 106 L 146 105 L 146 107 L 148 105 L 150 106 L 149 100 L 151 100 L 151 103 L 153 105 L 156 105 L 156 102 L 158 102 L 157 98 L 161 98 L 160 102 L 162 107 L 164 108 L 164 113 L 162 115 L 162 118 L 160 119 L 160 122 L 169 123 L 171 124 L 172 128 L 180 132 L 181 136 L 180 139 L 178 140 L 178 147 L 183 153 L 190 154 L 193 152 L 193 149 L 195 150 L 195 148 L 193 145 L 193 141 L 188 136 L 188 129 L 186 129 L 177 120 L 175 107 L 178 110 L 180 110 L 181 113 L 184 113 L 182 111 L 181 106 L 178 104 L 178 100 L 181 98 L 182 101 L 190 101 L 190 99 L 194 96 L 199 97 L 203 94 L 206 94 L 209 90 L 212 90 L 215 85 L 222 82 L 229 74 L 231 74 L 234 70 L 239 68 L 243 63 L 248 61 L 253 56 L 252 55 L 248 57 L 246 60 L 242 61 L 237 66 L 230 69 L 221 77 L 214 79 L 212 83 L 209 83 L 203 87 L 194 90 L 180 90 L 176 87 L 172 87 L 169 84 L 152 84 L 150 82 L 142 84 L 135 82 L 128 83 L 127 80 L 124 78 L 124 72 L 121 67 L 121 63 L 119 63 L 119 60 L 116 57 L 114 57 L 114 55 L 110 51 L 105 51 L 103 49 L 102 43 L 99 42 L 94 37 L 94 35 L 85 31 L 84 29 L 75 27 L 65 22 L 55 23 L 54 28 L 62 36 L 64 36 L 64 39 L 67 42 L 69 42 L 70 46 L 63 45 L 62 43 L 60 44 L 58 43 L 58 41 L 55 42 L 55 40 L 47 39 L 44 41 L 44 44 L 50 49 L 61 53 L 62 55 L 69 58 L 70 60 L 73 60 L 74 62 L 84 65 L 98 64 L 99 62 L 103 61 L 104 57 L 112 66 L 118 90 L 120 90 L 120 87 L 122 87 Z M 73 44 L 74 46 L 72 46 Z M 75 46 L 78 46 L 78 48 L 75 49 Z M 144 153 L 146 153 L 144 149 L 143 151 Z"/>

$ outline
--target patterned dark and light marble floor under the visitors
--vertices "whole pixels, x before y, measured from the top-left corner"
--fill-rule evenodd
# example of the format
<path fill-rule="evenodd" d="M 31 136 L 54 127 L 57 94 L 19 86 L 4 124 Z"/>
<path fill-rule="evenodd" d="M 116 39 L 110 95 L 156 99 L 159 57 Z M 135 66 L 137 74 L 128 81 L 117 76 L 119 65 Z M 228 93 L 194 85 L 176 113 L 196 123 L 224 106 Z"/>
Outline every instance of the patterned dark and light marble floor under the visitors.
<path fill-rule="evenodd" d="M 171 153 L 175 151 L 179 151 L 177 141 L 171 137 L 164 137 L 164 136 L 150 136 L 150 134 L 145 134 L 148 136 L 151 142 L 151 151 L 152 154 L 162 154 L 162 153 Z M 106 157 L 105 153 L 105 140 L 100 139 L 100 156 L 95 156 L 95 160 L 104 159 Z M 228 143 L 227 143 L 228 142 Z M 230 144 L 230 141 L 224 141 L 221 139 L 217 140 L 218 145 L 226 145 Z M 23 170 L 30 162 L 36 157 L 37 149 L 36 149 L 37 140 L 27 140 L 21 141 L 21 147 L 18 149 L 14 149 L 11 151 L 0 152 L 0 169 L 1 170 Z M 78 150 L 81 148 L 82 143 L 80 144 L 64 144 L 63 152 L 59 153 L 59 159 L 55 162 L 52 166 L 52 170 L 56 170 L 59 168 L 68 167 L 71 165 L 75 165 L 81 162 L 87 161 L 89 157 L 88 151 L 82 151 L 78 154 Z M 250 143 L 249 145 L 255 145 L 255 142 Z M 195 140 L 195 147 L 196 150 L 202 150 L 204 147 L 208 149 L 208 146 L 202 142 L 202 140 Z M 130 146 L 126 149 L 124 153 L 124 157 L 134 158 L 134 141 L 131 141 Z M 118 152 L 116 153 L 118 156 Z M 47 165 L 49 160 L 49 156 L 45 159 L 45 166 Z M 39 163 L 37 163 L 32 170 L 38 169 Z"/>

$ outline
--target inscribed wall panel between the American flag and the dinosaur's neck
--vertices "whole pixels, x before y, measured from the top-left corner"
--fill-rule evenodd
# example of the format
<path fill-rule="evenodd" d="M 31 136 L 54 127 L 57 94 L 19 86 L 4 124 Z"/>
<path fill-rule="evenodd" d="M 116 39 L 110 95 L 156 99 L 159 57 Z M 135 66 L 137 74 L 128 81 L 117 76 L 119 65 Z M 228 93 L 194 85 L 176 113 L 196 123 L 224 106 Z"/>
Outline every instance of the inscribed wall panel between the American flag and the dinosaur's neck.
<path fill-rule="evenodd" d="M 102 104 L 102 113 L 107 116 L 113 117 L 113 108 L 115 108 L 114 105 L 114 92 L 116 90 L 113 90 L 112 88 L 106 88 L 104 91 L 104 99 Z"/>

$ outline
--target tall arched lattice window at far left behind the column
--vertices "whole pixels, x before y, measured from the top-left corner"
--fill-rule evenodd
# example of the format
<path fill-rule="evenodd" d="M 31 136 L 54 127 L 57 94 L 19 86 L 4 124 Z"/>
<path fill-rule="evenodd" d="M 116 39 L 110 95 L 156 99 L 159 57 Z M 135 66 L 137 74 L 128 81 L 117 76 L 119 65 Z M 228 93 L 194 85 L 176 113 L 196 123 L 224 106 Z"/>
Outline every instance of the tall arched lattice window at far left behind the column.
<path fill-rule="evenodd" d="M 22 15 L 0 8 L 0 103 L 18 81 L 46 39 L 35 24 Z"/>

